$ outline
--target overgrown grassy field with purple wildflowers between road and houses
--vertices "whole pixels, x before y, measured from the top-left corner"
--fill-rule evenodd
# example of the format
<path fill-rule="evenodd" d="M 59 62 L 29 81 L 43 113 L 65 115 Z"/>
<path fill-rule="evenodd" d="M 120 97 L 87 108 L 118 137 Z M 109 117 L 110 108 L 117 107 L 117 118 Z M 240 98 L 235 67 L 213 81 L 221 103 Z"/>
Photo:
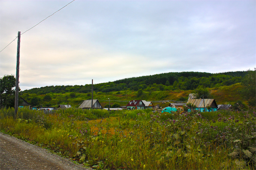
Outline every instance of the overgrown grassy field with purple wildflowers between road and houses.
<path fill-rule="evenodd" d="M 2 109 L 1 132 L 94 169 L 255 169 L 255 108 L 152 113 Z"/>

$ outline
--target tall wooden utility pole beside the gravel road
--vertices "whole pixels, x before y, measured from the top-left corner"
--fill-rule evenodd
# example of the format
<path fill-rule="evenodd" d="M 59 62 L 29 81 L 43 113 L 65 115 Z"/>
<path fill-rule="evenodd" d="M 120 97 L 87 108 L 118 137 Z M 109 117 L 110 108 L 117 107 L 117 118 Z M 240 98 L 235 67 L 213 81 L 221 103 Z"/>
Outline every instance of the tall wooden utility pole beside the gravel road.
<path fill-rule="evenodd" d="M 21 32 L 18 31 L 14 119 L 16 119 L 16 116 L 18 113 L 18 107 L 19 107 L 19 48 L 20 48 L 20 44 L 21 44 Z"/>

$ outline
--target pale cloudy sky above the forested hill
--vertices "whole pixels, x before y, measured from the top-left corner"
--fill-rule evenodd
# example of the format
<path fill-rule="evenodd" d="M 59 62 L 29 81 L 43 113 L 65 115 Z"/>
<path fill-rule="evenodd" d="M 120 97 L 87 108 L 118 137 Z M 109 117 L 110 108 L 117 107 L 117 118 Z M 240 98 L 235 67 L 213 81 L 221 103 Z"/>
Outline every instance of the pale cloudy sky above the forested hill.
<path fill-rule="evenodd" d="M 22 34 L 22 91 L 256 67 L 255 0 L 71 1 L 0 0 L 0 50 Z M 0 52 L 0 77 L 16 74 L 17 40 Z"/>

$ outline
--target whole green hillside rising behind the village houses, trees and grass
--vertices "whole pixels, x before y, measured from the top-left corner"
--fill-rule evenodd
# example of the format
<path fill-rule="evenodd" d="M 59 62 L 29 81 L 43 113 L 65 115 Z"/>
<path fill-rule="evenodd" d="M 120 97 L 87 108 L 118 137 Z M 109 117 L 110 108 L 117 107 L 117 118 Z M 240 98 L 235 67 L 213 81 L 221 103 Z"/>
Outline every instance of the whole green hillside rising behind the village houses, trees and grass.
<path fill-rule="evenodd" d="M 244 100 L 242 82 L 246 72 L 201 73 L 181 72 L 127 78 L 114 82 L 94 84 L 94 99 L 104 107 L 114 103 L 125 106 L 130 100 L 186 101 L 195 89 L 207 89 L 217 104 L 233 104 Z M 163 82 L 165 82 L 163 84 Z M 20 92 L 21 97 L 33 106 L 57 107 L 70 104 L 78 107 L 83 100 L 91 99 L 91 85 L 45 86 Z"/>

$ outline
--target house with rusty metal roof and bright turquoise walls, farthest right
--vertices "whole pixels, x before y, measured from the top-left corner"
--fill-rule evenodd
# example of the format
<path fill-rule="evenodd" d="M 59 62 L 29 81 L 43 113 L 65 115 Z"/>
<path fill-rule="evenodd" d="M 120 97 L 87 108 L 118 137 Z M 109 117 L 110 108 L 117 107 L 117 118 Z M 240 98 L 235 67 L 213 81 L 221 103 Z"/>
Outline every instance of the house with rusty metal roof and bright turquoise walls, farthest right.
<path fill-rule="evenodd" d="M 193 99 L 189 98 L 187 104 L 192 104 L 196 108 L 195 110 L 199 110 L 201 112 L 203 111 L 217 111 L 218 106 L 217 103 L 214 99 L 209 99 L 209 98 L 199 98 L 199 99 Z M 190 111 L 190 109 L 189 109 Z"/>

